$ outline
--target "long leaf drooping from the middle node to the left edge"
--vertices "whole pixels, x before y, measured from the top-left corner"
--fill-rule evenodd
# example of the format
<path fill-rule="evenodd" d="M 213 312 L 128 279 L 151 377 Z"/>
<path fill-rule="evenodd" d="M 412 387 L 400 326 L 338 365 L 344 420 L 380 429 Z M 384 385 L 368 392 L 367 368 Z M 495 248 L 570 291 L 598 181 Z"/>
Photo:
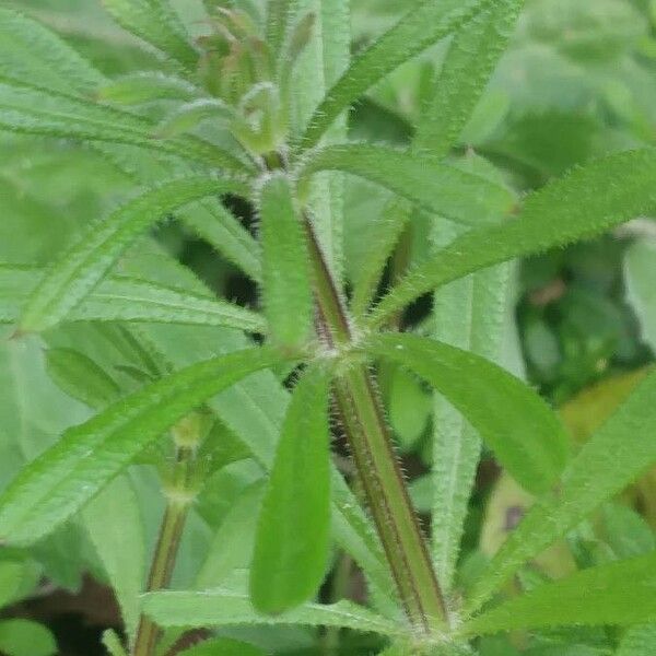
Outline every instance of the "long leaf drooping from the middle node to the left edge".
<path fill-rule="evenodd" d="M 238 351 L 194 364 L 69 429 L 0 496 L 0 539 L 30 544 L 52 531 L 189 410 L 233 383 L 281 361 L 273 349 Z"/>

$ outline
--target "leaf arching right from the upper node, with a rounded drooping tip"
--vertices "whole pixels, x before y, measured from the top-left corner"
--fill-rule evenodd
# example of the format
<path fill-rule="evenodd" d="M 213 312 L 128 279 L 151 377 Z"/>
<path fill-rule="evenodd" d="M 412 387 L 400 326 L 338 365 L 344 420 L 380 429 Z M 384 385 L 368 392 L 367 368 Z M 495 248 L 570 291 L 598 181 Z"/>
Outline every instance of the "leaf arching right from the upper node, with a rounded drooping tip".
<path fill-rule="evenodd" d="M 332 145 L 313 152 L 302 178 L 343 171 L 366 178 L 436 214 L 469 225 L 500 219 L 515 202 L 509 189 L 438 160 L 383 145 Z"/>

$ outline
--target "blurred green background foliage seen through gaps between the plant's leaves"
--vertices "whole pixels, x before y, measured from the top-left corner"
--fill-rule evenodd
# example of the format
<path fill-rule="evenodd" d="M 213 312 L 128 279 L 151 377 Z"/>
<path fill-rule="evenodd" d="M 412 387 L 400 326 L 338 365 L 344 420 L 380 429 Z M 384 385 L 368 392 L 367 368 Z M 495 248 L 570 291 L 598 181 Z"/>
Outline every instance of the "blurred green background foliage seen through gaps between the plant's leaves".
<path fill-rule="evenodd" d="M 371 42 L 412 2 L 417 0 L 353 0 L 353 49 Z M 173 4 L 192 33 L 202 32 L 201 0 Z M 248 10 L 257 1 L 241 4 Z M 54 27 L 108 77 L 165 66 L 116 26 L 99 0 L 21 0 L 20 8 Z M 0 33 L 0 61 L 4 47 Z M 444 45 L 433 48 L 374 89 L 353 108 L 351 138 L 408 144 L 444 51 Z M 148 110 L 157 114 L 161 107 Z M 454 156 L 464 156 L 465 165 L 490 171 L 490 175 L 503 175 L 525 192 L 595 156 L 654 145 L 655 137 L 656 0 L 528 0 L 512 46 L 462 134 L 460 152 Z M 133 188 L 112 162 L 74 143 L 2 136 L 0 148 L 2 261 L 48 262 L 74 239 L 79 226 L 106 213 Z M 386 199 L 373 185 L 348 180 L 345 251 L 351 279 L 358 277 L 363 256 L 375 243 L 375 221 Z M 233 210 L 253 229 L 249 208 Z M 411 261 L 430 256 L 431 229 L 427 218 L 414 222 Z M 221 293 L 244 303 L 256 302 L 243 276 L 174 221 L 161 226 L 155 236 Z M 522 262 L 514 298 L 508 309 L 508 366 L 560 408 L 574 444 L 581 444 L 654 360 L 656 221 L 639 218 L 601 239 Z M 429 332 L 429 301 L 418 304 L 406 317 L 407 323 Z M 58 331 L 55 341 L 55 345 L 80 348 L 74 328 Z M 113 349 L 113 364 L 124 362 L 121 371 L 129 379 L 134 359 L 129 339 L 119 329 L 98 328 L 97 344 Z M 16 344 L 3 340 L 0 386 L 11 393 L 0 396 L 3 485 L 23 460 L 34 457 L 62 427 L 81 421 L 89 411 L 51 385 L 40 347 L 30 341 Z M 430 466 L 431 399 L 414 378 L 399 372 L 385 372 L 383 387 L 415 504 L 427 511 L 431 500 L 424 475 Z M 183 546 L 177 571 L 180 581 L 197 569 L 198 554 L 207 549 L 211 529 L 221 525 L 227 531 L 224 535 L 231 535 L 231 526 L 255 515 L 258 472 L 248 460 L 233 457 L 235 462 L 213 477 L 200 501 Z M 143 481 L 140 485 L 142 514 L 152 516 L 149 508 L 157 507 L 161 500 L 154 487 Z M 482 462 L 462 557 L 462 586 L 530 503 L 490 459 Z M 525 571 L 514 585 L 528 588 L 536 577 L 653 550 L 654 529 L 656 475 L 648 475 L 589 525 L 544 554 L 538 567 Z M 152 540 L 155 526 L 149 530 Z M 247 551 L 238 537 L 234 538 L 223 547 L 221 553 L 227 560 L 221 566 L 239 566 Z M 67 528 L 36 552 L 10 555 L 0 560 L 0 607 L 11 608 L 4 614 L 23 618 L 12 620 L 19 623 L 31 618 L 47 622 L 62 654 L 94 653 L 90 644 L 97 644 L 95 628 L 112 625 L 116 611 L 85 574 L 103 578 L 87 540 L 75 527 Z M 37 585 L 35 601 L 32 593 Z M 358 596 L 358 582 L 351 587 Z M 28 602 L 19 602 L 27 596 Z M 3 625 L 0 623 L 0 652 Z M 4 630 L 22 635 L 35 629 L 14 623 Z M 91 642 L 89 633 L 94 636 Z M 51 637 L 42 637 L 43 644 L 35 647 L 33 642 L 25 652 L 15 652 L 17 656 L 52 653 Z M 248 637 L 278 654 L 317 653 L 313 636 L 301 629 Z M 483 641 L 480 647 L 483 656 L 513 656 L 520 651 L 532 656 L 609 654 L 610 639 L 604 631 L 570 632 L 566 640 L 578 646 L 566 652 L 560 639 L 557 632 L 532 636 L 528 642 L 525 637 L 514 642 L 495 637 Z M 342 648 L 344 654 L 361 654 L 366 653 L 365 646 L 344 640 Z"/>

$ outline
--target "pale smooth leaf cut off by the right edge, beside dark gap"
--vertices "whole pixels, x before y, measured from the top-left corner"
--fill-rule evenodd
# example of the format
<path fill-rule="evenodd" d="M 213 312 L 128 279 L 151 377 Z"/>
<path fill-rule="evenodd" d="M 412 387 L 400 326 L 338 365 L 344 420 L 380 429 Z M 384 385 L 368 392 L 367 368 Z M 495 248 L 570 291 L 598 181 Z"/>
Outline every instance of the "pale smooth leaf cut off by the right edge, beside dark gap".
<path fill-rule="evenodd" d="M 625 279 L 629 302 L 640 319 L 642 335 L 656 349 L 656 239 L 636 242 L 626 251 Z"/>

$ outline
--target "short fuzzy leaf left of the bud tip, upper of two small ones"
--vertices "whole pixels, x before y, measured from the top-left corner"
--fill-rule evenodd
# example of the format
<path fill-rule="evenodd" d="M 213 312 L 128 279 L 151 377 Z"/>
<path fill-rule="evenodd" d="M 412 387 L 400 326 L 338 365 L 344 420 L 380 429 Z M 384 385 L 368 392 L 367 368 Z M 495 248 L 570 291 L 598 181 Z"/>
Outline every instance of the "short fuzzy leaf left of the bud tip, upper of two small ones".
<path fill-rule="evenodd" d="M 190 101 L 200 93 L 183 78 L 167 75 L 160 71 L 139 71 L 115 78 L 99 86 L 98 101 L 116 105 L 140 105 L 153 101 Z"/>

